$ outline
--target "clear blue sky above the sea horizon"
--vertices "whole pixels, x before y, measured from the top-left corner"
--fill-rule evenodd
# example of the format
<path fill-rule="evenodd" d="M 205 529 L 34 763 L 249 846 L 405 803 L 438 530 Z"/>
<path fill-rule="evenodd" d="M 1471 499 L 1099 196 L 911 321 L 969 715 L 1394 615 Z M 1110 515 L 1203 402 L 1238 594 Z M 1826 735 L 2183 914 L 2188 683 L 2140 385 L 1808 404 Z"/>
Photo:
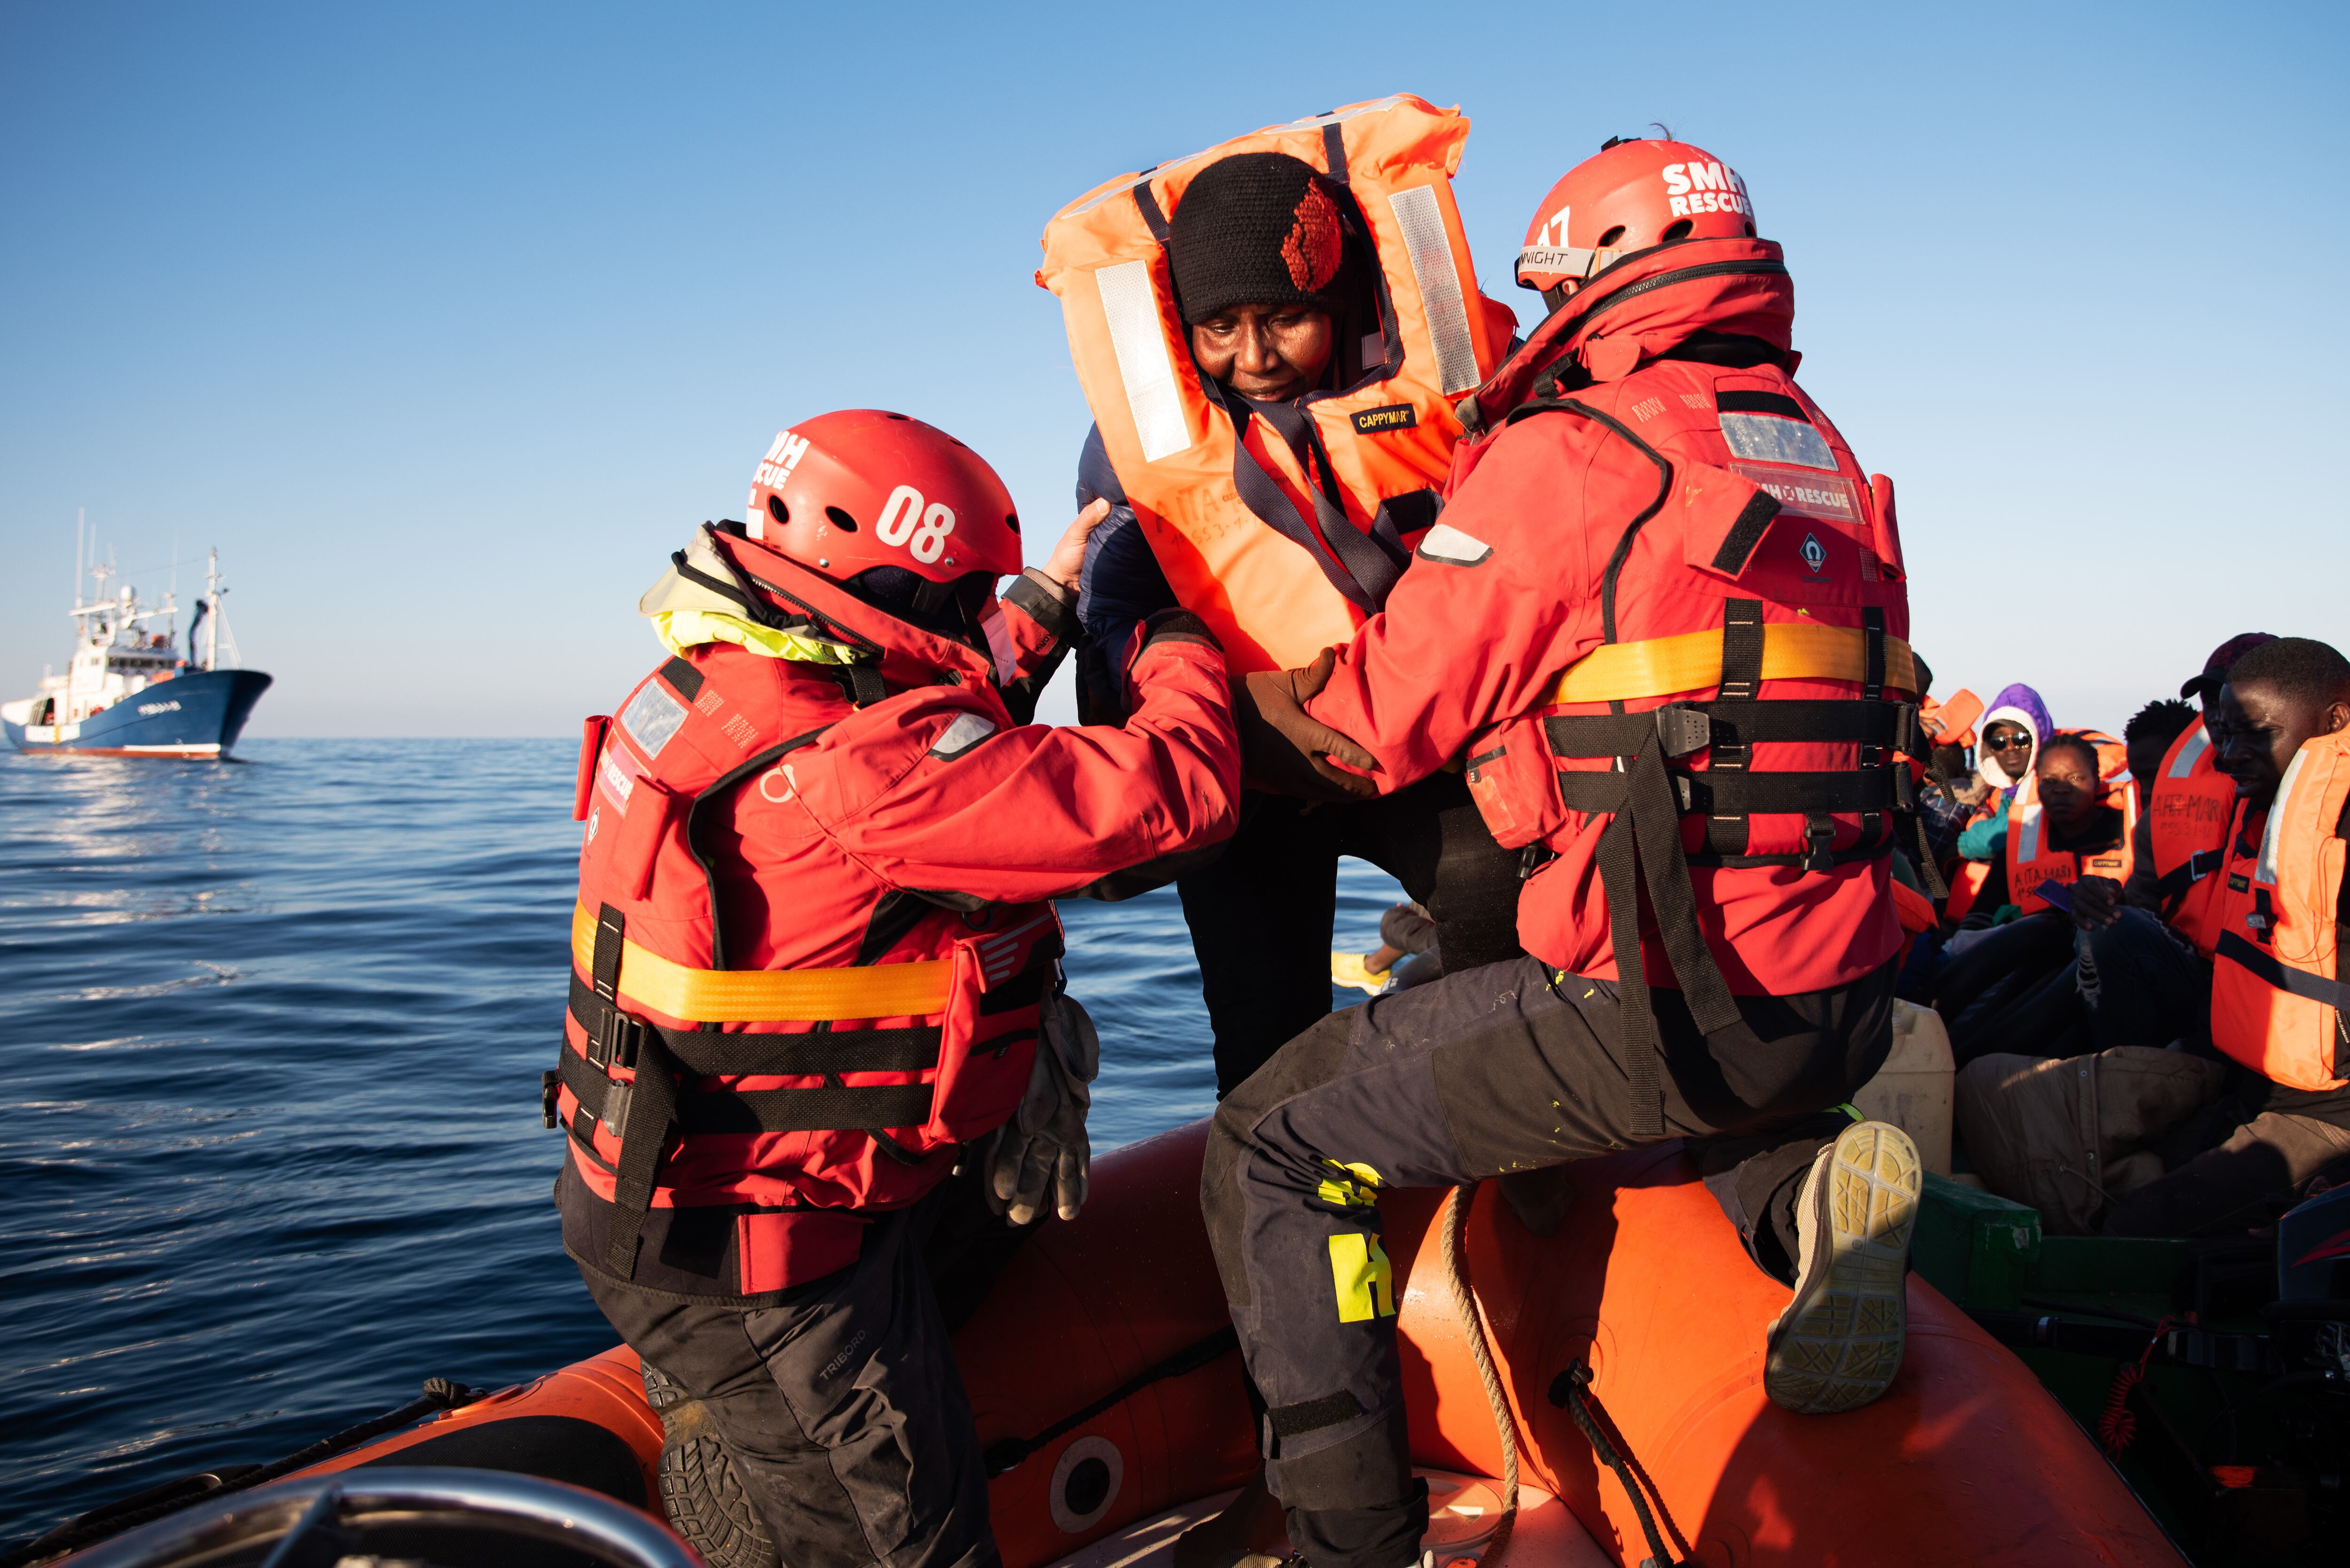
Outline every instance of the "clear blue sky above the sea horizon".
<path fill-rule="evenodd" d="M 830 407 L 968 440 L 1041 550 L 1088 423 L 1043 221 L 1389 92 L 1471 115 L 1528 320 L 1605 136 L 1739 167 L 1943 691 L 2117 729 L 2237 630 L 2350 639 L 2350 9 L 1274 16 L 0 5 L 0 696 L 63 661 L 78 505 L 141 590 L 221 545 L 256 736 L 609 712 L 667 550 Z"/>

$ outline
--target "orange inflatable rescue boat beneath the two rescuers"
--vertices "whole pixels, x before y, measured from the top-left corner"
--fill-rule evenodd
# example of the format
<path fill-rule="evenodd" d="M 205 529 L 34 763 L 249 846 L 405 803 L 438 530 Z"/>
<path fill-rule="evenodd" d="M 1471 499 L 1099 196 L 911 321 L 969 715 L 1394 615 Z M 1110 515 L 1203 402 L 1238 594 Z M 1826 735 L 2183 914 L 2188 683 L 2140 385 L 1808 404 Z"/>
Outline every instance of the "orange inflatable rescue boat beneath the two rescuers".
<path fill-rule="evenodd" d="M 1255 1469 L 1241 1356 L 1198 1220 L 1203 1147 L 1206 1124 L 1191 1124 L 1102 1157 L 1083 1215 L 1039 1227 L 956 1333 L 1010 1568 L 1170 1561 L 1175 1537 L 1220 1512 Z M 1908 1354 L 1887 1396 L 1845 1415 L 1788 1415 L 1762 1396 L 1760 1354 L 1786 1291 L 1746 1260 L 1678 1145 L 1558 1178 L 1565 1218 L 1546 1239 L 1492 1182 L 1382 1199 L 1386 1251 L 1408 1279 L 1398 1331 L 1438 1568 L 2186 1561 L 2033 1373 L 1922 1279 L 1908 1286 Z M 1462 1314 L 1455 1281 L 1473 1316 Z M 376 1497 L 367 1502 L 376 1516 L 418 1519 L 423 1505 L 378 1493 L 470 1469 L 602 1493 L 548 1488 L 578 1500 L 555 1514 L 585 1535 L 540 1526 L 540 1540 L 590 1559 L 656 1561 L 613 1556 L 616 1528 L 588 1528 L 597 1509 L 611 1512 L 604 1500 L 670 1521 L 705 1509 L 689 1537 L 724 1535 L 728 1497 L 674 1453 L 663 1465 L 660 1382 L 649 1396 L 625 1347 L 524 1387 L 428 1389 L 435 1396 L 456 1408 L 421 1425 L 395 1413 L 407 1429 L 240 1493 L 242 1505 L 214 1500 L 212 1512 L 251 1521 L 275 1507 L 298 1526 L 327 1519 L 327 1500 L 360 1509 L 355 1500 Z M 1497 1476 L 1511 1467 L 1518 1507 L 1497 1528 L 1506 1490 Z M 230 1476 L 228 1488 L 251 1479 Z M 181 1486 L 200 1495 L 207 1481 L 221 1479 Z M 118 1505 L 113 1516 L 120 1526 L 143 1514 Z M 219 1547 L 167 1552 L 160 1542 L 174 1528 L 186 1535 L 179 1519 L 63 1561 L 233 1561 Z M 47 1559 L 78 1544 L 73 1528 L 52 1533 Z M 214 1540 L 228 1526 L 207 1528 Z M 348 1561 L 355 1537 L 338 1540 Z M 280 1544 L 277 1556 L 306 1554 Z M 449 1568 L 456 1556 L 432 1552 Z M 719 1540 L 707 1556 L 724 1563 L 733 1552 Z M 320 1568 L 334 1561 L 320 1556 Z M 517 1561 L 505 1552 L 498 1568 Z"/>

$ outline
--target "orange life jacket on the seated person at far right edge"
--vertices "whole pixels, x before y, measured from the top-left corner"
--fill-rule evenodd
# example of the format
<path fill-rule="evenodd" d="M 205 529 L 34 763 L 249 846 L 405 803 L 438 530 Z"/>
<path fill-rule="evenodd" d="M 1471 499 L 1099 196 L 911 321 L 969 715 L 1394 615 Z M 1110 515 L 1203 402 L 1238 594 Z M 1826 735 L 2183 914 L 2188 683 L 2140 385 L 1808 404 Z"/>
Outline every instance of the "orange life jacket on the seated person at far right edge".
<path fill-rule="evenodd" d="M 2350 802 L 2350 731 L 2303 743 L 2268 809 L 2261 853 L 2221 884 L 2211 1044 L 2287 1088 L 2338 1088 L 2343 1006 L 2336 952 Z"/>

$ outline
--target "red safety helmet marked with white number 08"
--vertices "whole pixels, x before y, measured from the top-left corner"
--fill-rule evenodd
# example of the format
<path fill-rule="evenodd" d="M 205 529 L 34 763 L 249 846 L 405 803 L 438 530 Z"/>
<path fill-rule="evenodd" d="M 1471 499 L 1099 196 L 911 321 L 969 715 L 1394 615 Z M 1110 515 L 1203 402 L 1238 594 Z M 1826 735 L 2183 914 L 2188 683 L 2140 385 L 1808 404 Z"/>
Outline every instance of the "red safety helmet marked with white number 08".
<path fill-rule="evenodd" d="M 745 531 L 834 581 L 900 567 L 933 583 L 1020 571 L 1020 515 L 978 451 L 881 409 L 818 414 L 776 435 Z"/>

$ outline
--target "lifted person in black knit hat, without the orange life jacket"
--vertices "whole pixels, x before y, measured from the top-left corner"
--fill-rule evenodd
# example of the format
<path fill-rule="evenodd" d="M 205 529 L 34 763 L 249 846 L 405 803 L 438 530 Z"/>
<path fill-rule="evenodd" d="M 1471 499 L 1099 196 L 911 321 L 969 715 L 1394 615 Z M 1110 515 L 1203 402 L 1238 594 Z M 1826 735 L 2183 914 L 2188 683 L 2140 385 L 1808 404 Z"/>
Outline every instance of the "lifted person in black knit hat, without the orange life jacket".
<path fill-rule="evenodd" d="M 1361 343 L 1379 331 L 1377 259 L 1351 212 L 1342 186 L 1285 153 L 1222 158 L 1184 188 L 1168 214 L 1175 294 L 1198 374 L 1217 383 L 1227 407 L 1243 404 L 1276 428 L 1297 400 L 1361 378 Z M 1314 214 L 1342 223 L 1323 233 L 1307 223 Z M 1076 496 L 1079 505 L 1112 503 L 1086 545 L 1079 618 L 1093 649 L 1114 654 L 1135 621 L 1177 599 L 1126 505 L 1100 428 L 1079 458 Z M 1112 710 L 1097 696 L 1109 684 L 1100 670 L 1090 651 L 1079 656 L 1079 717 Z M 1302 682 L 1300 696 L 1318 689 L 1311 672 Z M 1248 689 L 1262 691 L 1264 682 Z M 1518 952 L 1523 860 L 1492 842 L 1462 776 L 1434 773 L 1375 797 L 1349 773 L 1309 766 L 1314 750 L 1344 752 L 1344 738 L 1295 715 L 1288 693 L 1269 698 L 1264 717 L 1283 715 L 1295 748 L 1267 733 L 1250 703 L 1241 705 L 1248 776 L 1262 788 L 1243 797 L 1231 842 L 1175 884 L 1215 1030 L 1217 1095 L 1330 1011 L 1342 856 L 1386 870 L 1431 912 L 1448 966 Z"/>

